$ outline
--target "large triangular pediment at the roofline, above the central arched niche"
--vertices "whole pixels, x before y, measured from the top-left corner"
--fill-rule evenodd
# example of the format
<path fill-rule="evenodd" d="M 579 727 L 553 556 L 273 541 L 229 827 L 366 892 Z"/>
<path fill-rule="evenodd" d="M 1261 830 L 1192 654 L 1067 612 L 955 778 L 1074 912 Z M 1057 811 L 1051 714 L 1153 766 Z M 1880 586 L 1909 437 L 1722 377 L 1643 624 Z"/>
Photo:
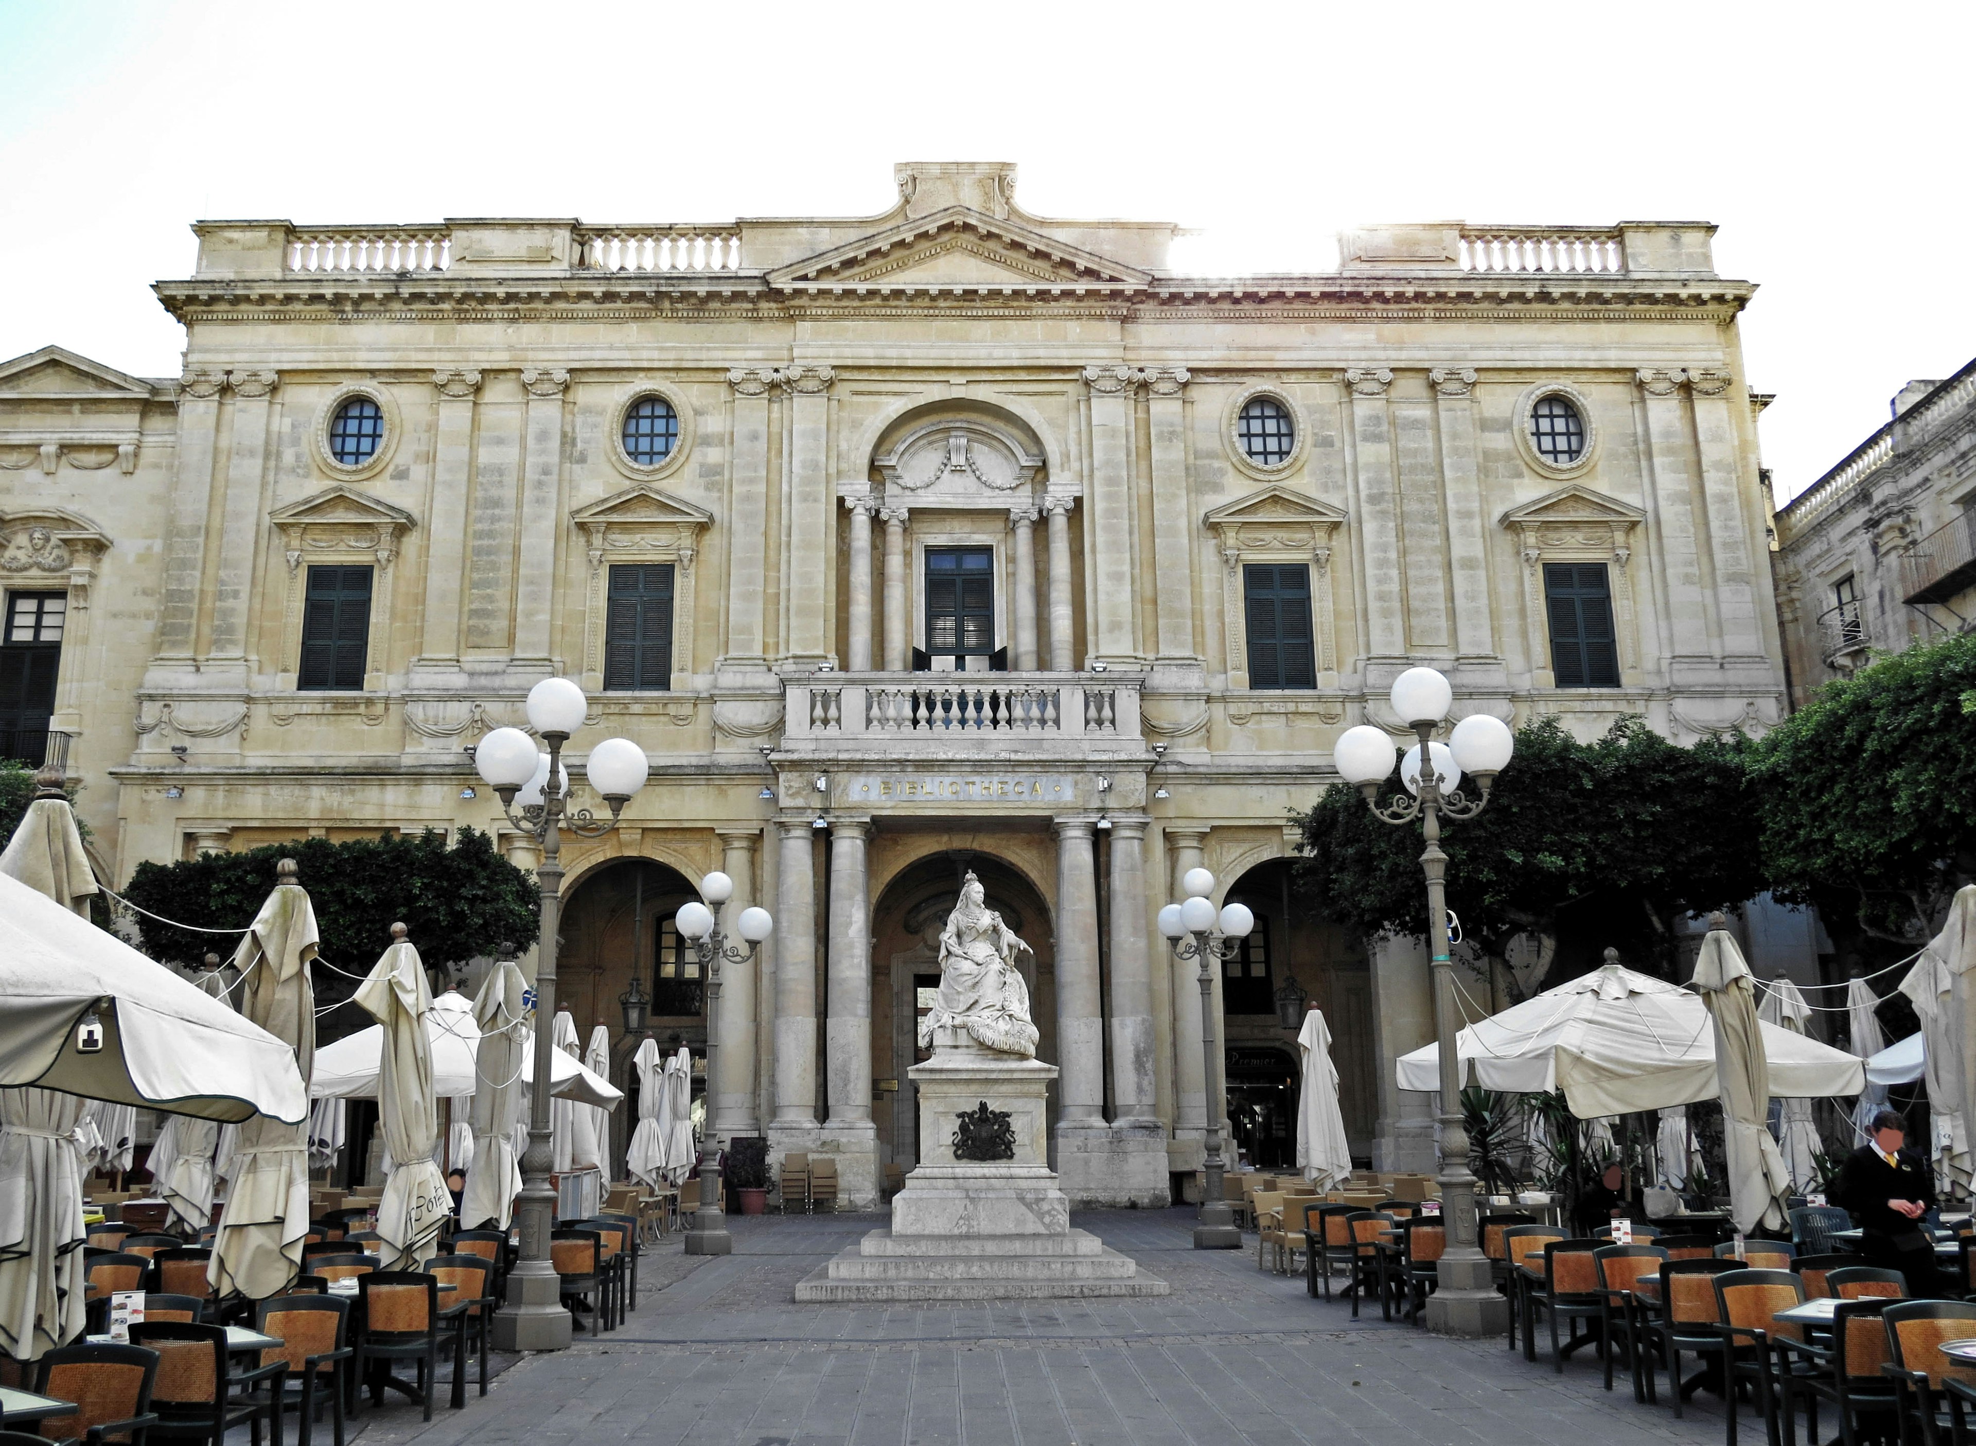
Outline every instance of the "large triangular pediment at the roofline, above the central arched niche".
<path fill-rule="evenodd" d="M 950 205 L 771 271 L 767 281 L 784 290 L 1130 290 L 1148 284 L 1152 273 L 1016 221 Z"/>

